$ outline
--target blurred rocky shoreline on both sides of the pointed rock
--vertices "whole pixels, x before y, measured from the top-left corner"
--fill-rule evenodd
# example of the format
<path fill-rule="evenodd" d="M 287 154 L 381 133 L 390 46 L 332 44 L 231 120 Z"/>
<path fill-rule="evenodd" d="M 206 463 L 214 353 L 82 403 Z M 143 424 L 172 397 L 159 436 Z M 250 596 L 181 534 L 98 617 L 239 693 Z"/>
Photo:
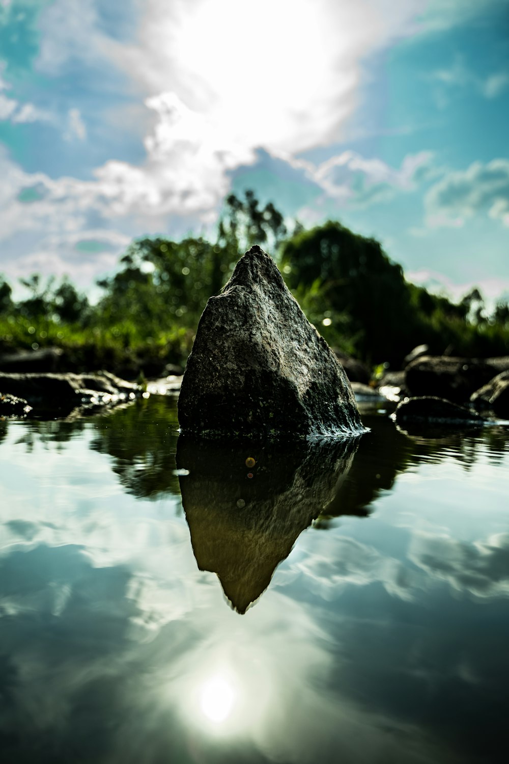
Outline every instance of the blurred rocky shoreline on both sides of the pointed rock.
<path fill-rule="evenodd" d="M 420 422 L 458 428 L 509 419 L 509 356 L 472 359 L 422 355 L 401 371 L 388 371 L 369 384 L 359 381 L 359 368 L 366 380 L 363 364 L 344 355 L 340 361 L 357 403 L 394 410 L 398 425 Z M 2 371 L 0 363 L 0 418 L 62 418 L 71 413 L 92 413 L 143 396 L 178 395 L 181 384 L 182 374 L 137 384 L 109 371 L 9 373 Z"/>

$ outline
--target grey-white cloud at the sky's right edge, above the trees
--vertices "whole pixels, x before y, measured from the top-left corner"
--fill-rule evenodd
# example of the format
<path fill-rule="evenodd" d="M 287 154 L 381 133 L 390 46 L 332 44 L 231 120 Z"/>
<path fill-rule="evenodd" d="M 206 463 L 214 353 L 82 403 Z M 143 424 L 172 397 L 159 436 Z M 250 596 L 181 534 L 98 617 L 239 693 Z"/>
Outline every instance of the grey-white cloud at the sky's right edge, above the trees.
<path fill-rule="evenodd" d="M 467 170 L 447 173 L 425 197 L 428 225 L 461 226 L 487 213 L 509 226 L 509 160 L 474 162 Z"/>

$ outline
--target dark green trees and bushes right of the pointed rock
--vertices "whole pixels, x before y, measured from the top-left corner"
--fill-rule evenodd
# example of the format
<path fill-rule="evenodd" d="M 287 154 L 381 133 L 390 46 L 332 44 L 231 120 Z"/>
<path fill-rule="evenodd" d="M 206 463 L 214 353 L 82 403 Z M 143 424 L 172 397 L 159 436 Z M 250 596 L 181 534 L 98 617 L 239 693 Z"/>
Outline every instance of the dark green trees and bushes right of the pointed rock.
<path fill-rule="evenodd" d="M 422 343 L 436 354 L 507 352 L 506 303 L 490 319 L 476 289 L 456 305 L 408 283 L 378 241 L 339 222 L 285 241 L 281 262 L 295 296 L 327 341 L 371 364 L 388 361 L 399 367 L 404 355 Z"/>

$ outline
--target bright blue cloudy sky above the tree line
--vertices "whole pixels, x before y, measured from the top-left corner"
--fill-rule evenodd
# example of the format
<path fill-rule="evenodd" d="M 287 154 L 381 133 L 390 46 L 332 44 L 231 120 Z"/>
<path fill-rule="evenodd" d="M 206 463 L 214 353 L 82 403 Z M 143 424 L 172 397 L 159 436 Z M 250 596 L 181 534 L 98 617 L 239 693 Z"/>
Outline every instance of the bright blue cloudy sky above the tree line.
<path fill-rule="evenodd" d="M 253 188 L 509 290 L 507 0 L 0 0 L 0 272 L 113 269 Z"/>

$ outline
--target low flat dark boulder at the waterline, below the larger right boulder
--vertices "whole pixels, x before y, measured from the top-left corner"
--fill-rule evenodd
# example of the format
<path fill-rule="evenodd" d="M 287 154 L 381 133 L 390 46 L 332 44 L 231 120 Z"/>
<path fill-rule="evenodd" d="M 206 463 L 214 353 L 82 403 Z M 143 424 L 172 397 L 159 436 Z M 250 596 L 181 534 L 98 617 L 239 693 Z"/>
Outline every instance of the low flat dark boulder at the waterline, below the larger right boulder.
<path fill-rule="evenodd" d="M 408 398 L 398 403 L 392 415 L 397 424 L 423 422 L 430 424 L 449 424 L 462 426 L 482 426 L 485 419 L 477 412 L 459 406 L 450 400 L 434 396 Z"/>

